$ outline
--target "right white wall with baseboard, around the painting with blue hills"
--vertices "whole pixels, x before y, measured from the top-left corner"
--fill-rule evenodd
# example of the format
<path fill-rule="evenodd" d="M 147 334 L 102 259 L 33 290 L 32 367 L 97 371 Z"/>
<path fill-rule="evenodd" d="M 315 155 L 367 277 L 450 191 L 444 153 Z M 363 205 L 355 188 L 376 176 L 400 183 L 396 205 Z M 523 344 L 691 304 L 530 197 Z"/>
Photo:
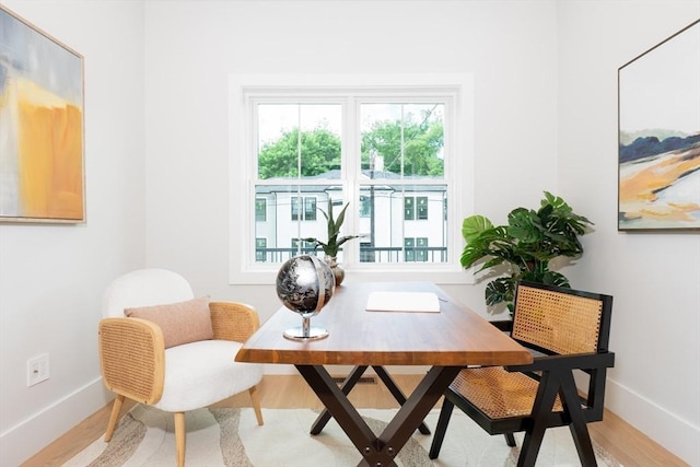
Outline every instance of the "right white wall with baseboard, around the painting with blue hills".
<path fill-rule="evenodd" d="M 697 466 L 700 235 L 617 231 L 617 70 L 698 20 L 700 1 L 567 1 L 558 12 L 559 186 L 595 222 L 568 275 L 615 295 L 606 402 Z"/>

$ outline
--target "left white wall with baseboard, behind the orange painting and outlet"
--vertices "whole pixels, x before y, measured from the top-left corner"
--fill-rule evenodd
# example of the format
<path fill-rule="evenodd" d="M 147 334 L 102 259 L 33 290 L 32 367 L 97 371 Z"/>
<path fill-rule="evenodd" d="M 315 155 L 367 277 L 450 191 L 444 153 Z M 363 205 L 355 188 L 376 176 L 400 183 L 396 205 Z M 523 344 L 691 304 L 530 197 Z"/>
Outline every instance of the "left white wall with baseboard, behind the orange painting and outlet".
<path fill-rule="evenodd" d="M 143 5 L 4 1 L 84 56 L 88 222 L 0 224 L 0 465 L 14 466 L 107 402 L 102 293 L 143 265 Z M 47 352 L 50 378 L 26 386 Z"/>

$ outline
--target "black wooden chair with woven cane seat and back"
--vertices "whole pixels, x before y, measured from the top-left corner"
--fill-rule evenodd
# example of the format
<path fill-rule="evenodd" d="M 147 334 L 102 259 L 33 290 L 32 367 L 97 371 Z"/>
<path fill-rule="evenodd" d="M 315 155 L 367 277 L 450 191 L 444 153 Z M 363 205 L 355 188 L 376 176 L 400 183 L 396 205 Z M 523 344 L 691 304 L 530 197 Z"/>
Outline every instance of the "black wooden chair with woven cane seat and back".
<path fill-rule="evenodd" d="M 443 400 L 430 458 L 438 458 L 450 417 L 458 407 L 490 434 L 525 432 L 518 466 L 534 466 L 545 431 L 569 425 L 583 466 L 596 459 L 586 423 L 603 420 L 606 371 L 615 363 L 608 351 L 612 297 L 572 289 L 520 282 L 513 320 L 493 322 L 530 349 L 528 365 L 463 370 Z M 587 393 L 580 395 L 574 374 Z M 587 375 L 587 376 L 585 376 Z"/>

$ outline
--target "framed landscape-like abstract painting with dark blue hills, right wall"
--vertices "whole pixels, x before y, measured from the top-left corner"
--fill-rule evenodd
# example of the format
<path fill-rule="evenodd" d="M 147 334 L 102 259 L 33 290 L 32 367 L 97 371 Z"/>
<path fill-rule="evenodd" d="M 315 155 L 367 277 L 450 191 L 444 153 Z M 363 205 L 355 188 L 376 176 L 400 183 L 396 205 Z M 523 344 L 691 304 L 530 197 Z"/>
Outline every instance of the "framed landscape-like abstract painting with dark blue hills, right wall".
<path fill-rule="evenodd" d="M 700 230 L 700 20 L 618 69 L 618 230 Z"/>

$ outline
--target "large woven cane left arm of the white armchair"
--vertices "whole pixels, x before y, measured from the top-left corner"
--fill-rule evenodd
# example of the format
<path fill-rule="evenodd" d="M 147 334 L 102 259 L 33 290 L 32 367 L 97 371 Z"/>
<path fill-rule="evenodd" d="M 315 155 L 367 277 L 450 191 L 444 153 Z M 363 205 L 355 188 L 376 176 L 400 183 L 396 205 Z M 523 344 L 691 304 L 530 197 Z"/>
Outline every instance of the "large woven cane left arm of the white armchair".
<path fill-rule="evenodd" d="M 100 322 L 100 363 L 107 389 L 143 404 L 163 395 L 165 350 L 163 331 L 140 318 Z"/>

